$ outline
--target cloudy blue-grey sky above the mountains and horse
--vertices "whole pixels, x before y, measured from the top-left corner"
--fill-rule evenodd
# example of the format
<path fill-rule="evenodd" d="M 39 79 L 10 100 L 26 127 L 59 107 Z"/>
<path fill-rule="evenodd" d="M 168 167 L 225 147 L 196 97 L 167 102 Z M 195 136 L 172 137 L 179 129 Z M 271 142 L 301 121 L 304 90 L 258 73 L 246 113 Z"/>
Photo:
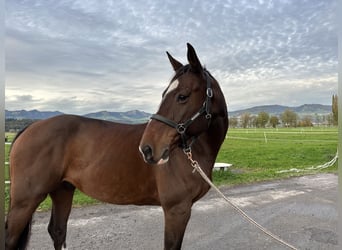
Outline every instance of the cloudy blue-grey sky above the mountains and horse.
<path fill-rule="evenodd" d="M 156 112 L 186 43 L 228 109 L 331 104 L 337 0 L 6 1 L 5 108 Z"/>

